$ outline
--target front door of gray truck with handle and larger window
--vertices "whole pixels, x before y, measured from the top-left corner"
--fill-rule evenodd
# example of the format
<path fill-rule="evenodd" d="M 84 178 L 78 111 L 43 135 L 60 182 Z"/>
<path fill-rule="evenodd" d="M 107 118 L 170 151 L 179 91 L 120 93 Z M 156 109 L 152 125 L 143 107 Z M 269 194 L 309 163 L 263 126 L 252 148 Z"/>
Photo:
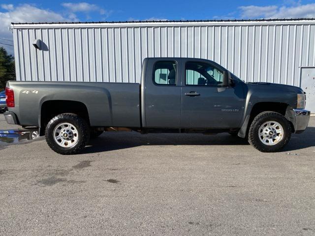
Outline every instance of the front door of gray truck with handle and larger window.
<path fill-rule="evenodd" d="M 183 60 L 181 126 L 237 128 L 244 110 L 242 82 L 223 87 L 224 68 L 202 59 Z"/>

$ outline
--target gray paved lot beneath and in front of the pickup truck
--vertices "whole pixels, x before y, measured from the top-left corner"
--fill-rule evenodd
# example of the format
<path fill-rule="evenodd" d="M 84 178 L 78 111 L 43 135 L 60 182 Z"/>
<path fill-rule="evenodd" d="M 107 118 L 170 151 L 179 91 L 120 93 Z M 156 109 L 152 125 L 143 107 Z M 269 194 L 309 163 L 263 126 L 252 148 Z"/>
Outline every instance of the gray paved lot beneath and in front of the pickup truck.
<path fill-rule="evenodd" d="M 315 118 L 269 154 L 228 134 L 0 146 L 0 201 L 0 236 L 315 235 Z"/>

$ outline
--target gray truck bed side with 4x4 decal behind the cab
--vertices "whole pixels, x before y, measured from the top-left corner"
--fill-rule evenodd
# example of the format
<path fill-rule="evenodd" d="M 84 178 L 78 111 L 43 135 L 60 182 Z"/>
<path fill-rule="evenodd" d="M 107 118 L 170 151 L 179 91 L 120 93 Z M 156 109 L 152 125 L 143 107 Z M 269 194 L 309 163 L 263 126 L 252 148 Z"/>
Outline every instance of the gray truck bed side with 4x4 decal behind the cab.
<path fill-rule="evenodd" d="M 14 89 L 11 111 L 21 125 L 40 126 L 37 114 L 45 102 L 71 100 L 86 106 L 91 126 L 141 126 L 140 84 L 10 81 L 7 87 Z"/>

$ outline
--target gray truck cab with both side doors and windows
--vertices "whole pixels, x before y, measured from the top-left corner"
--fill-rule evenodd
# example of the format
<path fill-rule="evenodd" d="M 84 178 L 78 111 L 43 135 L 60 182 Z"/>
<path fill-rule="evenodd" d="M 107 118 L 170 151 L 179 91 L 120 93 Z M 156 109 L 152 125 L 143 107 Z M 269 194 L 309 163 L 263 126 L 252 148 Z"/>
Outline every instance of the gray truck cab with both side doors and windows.
<path fill-rule="evenodd" d="M 141 81 L 144 127 L 237 128 L 244 83 L 205 59 L 145 59 Z"/>

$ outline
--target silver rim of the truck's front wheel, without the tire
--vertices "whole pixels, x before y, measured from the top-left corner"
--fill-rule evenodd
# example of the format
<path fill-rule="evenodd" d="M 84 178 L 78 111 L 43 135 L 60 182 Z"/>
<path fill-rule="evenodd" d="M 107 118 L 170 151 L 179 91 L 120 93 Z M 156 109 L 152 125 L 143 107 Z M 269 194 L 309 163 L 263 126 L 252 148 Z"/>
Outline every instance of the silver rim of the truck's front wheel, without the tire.
<path fill-rule="evenodd" d="M 258 137 L 264 145 L 276 145 L 284 137 L 284 128 L 277 121 L 267 121 L 259 127 Z"/>

